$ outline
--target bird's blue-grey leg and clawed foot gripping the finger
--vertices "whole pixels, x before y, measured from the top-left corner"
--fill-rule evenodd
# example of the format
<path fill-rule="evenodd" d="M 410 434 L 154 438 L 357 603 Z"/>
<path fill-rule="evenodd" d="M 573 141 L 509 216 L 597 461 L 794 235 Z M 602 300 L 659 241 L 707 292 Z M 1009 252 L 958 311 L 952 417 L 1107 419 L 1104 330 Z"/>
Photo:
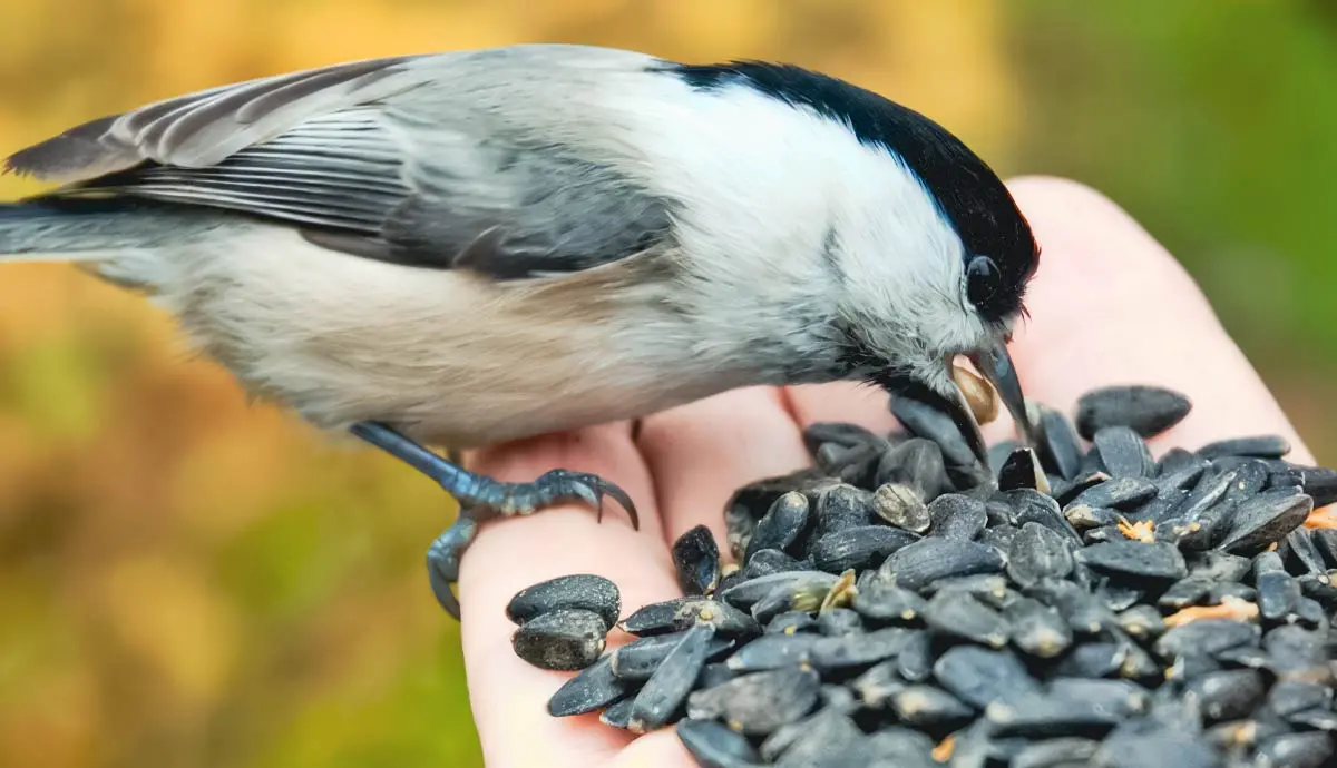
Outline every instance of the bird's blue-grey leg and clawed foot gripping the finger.
<path fill-rule="evenodd" d="M 460 502 L 460 517 L 427 553 L 428 578 L 441 608 L 460 617 L 460 602 L 451 585 L 460 576 L 460 557 L 477 534 L 479 524 L 493 517 L 532 514 L 571 501 L 595 508 L 603 518 L 603 498 L 611 497 L 627 510 L 631 526 L 640 528 L 636 508 L 627 492 L 595 474 L 555 469 L 532 482 L 501 482 L 463 469 L 377 422 L 358 422 L 350 431 L 431 477 Z"/>

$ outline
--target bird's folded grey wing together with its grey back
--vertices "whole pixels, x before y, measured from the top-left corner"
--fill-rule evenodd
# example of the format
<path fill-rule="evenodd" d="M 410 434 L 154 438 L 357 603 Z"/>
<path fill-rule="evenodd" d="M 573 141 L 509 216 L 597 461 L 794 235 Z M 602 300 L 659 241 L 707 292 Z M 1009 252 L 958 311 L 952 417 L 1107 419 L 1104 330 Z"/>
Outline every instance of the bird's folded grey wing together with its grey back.
<path fill-rule="evenodd" d="M 354 61 L 94 120 L 7 164 L 66 182 L 53 195 L 235 211 L 366 258 L 575 271 L 668 236 L 671 202 L 615 142 L 578 138 L 616 123 L 582 93 L 654 61 L 574 45 Z"/>

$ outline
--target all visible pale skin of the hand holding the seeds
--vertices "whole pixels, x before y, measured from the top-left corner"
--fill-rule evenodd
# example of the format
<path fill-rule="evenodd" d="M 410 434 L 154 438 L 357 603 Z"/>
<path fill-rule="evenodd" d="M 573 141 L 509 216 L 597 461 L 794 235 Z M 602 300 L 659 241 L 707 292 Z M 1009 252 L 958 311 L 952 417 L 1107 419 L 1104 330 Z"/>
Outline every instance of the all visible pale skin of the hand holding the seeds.
<path fill-rule="evenodd" d="M 1098 192 L 1060 179 L 1013 180 L 1043 255 L 1011 345 L 1028 397 L 1072 413 L 1076 398 L 1110 383 L 1158 383 L 1189 394 L 1194 410 L 1157 451 L 1278 433 L 1292 461 L 1312 462 L 1277 402 L 1222 330 L 1206 299 L 1166 250 Z M 489 768 L 694 765 L 673 729 L 632 739 L 596 715 L 554 719 L 547 700 L 570 673 L 529 666 L 511 649 L 503 608 L 520 589 L 556 576 L 598 573 L 622 590 L 623 614 L 681 594 L 668 546 L 705 524 L 723 542 L 721 512 L 738 486 L 809 463 L 801 429 L 853 421 L 890 430 L 884 394 L 848 385 L 726 393 L 631 423 L 512 443 L 469 457 L 471 469 L 525 481 L 563 466 L 598 473 L 635 500 L 634 532 L 610 504 L 603 524 L 582 508 L 489 522 L 460 574 L 469 697 Z M 989 442 L 1012 435 L 1005 411 Z M 722 549 L 725 549 L 722 546 Z M 610 642 L 624 641 L 618 630 Z"/>

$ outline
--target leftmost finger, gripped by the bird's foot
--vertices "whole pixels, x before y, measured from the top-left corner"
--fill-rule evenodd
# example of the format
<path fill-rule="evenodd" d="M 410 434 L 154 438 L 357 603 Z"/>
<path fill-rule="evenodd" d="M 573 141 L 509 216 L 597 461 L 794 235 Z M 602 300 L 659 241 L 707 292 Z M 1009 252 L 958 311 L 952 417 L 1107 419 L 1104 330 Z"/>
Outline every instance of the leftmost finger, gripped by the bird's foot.
<path fill-rule="evenodd" d="M 628 736 L 596 716 L 551 717 L 547 701 L 571 677 L 515 656 L 505 604 L 539 581 L 572 573 L 612 580 L 623 606 L 677 594 L 644 463 L 627 425 L 550 435 L 477 454 L 475 469 L 497 479 L 529 481 L 564 467 L 616 482 L 635 500 L 634 532 L 608 504 L 603 522 L 567 505 L 529 517 L 491 521 L 464 554 L 460 572 L 461 634 L 469 700 L 488 765 L 588 765 L 611 759 Z M 616 632 L 610 636 L 615 640 Z M 519 736 L 517 735 L 523 735 Z"/>

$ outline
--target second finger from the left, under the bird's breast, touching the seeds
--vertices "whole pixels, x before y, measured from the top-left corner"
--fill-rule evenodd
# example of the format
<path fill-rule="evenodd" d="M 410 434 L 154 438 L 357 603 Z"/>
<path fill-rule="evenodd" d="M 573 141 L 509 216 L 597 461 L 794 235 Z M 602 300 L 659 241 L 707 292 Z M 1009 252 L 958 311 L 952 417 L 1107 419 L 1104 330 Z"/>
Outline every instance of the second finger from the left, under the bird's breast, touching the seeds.
<path fill-rule="evenodd" d="M 707 525 L 725 548 L 723 509 L 742 485 L 808 466 L 775 387 L 749 387 L 655 414 L 636 439 L 654 477 L 664 534 Z"/>

